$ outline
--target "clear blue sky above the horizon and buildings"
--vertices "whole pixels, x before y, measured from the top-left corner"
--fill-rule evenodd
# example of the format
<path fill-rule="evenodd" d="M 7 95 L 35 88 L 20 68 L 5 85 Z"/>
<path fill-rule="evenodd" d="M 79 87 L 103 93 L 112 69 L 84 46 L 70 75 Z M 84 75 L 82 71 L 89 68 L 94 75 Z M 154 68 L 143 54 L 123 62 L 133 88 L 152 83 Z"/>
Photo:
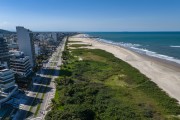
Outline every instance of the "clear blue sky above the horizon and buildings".
<path fill-rule="evenodd" d="M 180 0 L 0 0 L 0 29 L 180 31 Z"/>

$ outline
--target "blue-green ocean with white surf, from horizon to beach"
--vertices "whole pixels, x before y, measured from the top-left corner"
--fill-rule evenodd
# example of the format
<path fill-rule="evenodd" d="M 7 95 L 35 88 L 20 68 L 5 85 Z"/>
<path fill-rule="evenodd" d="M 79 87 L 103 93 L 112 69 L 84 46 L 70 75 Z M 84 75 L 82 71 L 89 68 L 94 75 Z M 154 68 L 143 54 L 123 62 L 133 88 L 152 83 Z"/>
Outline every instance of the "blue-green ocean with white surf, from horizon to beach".
<path fill-rule="evenodd" d="M 180 64 L 180 32 L 89 32 L 97 40 Z"/>

